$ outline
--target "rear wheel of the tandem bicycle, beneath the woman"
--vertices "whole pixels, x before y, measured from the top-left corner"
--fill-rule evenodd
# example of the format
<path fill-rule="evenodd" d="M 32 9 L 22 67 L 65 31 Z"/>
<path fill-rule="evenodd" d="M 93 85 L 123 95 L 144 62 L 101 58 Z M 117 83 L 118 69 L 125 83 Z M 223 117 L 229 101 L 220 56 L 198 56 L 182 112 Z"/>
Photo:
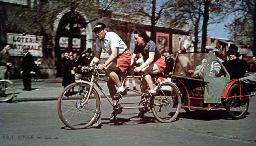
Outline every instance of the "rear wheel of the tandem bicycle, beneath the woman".
<path fill-rule="evenodd" d="M 171 122 L 181 109 L 179 89 L 173 83 L 163 83 L 157 87 L 158 96 L 151 98 L 152 113 L 160 122 Z"/>

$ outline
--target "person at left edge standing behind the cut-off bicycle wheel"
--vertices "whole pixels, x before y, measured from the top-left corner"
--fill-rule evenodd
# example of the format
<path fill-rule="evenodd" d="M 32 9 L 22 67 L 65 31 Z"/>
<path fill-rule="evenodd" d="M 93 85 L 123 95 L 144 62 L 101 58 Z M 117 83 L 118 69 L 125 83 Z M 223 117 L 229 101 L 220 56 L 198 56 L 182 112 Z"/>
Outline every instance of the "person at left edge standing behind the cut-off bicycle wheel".
<path fill-rule="evenodd" d="M 9 62 L 9 53 L 8 50 L 11 49 L 10 44 L 4 45 L 4 48 L 2 51 L 0 51 L 0 78 L 6 79 L 6 70 L 7 67 L 10 67 L 12 65 L 11 62 Z"/>

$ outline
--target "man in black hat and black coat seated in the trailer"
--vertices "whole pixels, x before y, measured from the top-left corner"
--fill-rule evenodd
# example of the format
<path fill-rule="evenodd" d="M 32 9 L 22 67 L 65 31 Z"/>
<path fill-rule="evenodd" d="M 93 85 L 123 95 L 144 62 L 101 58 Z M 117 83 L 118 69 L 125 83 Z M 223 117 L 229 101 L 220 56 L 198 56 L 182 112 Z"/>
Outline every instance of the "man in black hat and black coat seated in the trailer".
<path fill-rule="evenodd" d="M 230 79 L 239 79 L 245 75 L 245 71 L 248 70 L 247 62 L 238 58 L 239 52 L 238 47 L 230 45 L 228 51 L 229 60 L 222 62 L 226 70 L 230 75 Z"/>

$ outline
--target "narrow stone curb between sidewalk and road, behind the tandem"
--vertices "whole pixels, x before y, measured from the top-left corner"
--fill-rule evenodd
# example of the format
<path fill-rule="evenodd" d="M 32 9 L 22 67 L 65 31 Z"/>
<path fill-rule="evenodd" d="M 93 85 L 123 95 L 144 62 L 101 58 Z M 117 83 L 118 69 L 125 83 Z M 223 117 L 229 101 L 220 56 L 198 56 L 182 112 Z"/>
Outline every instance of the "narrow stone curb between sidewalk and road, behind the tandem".
<path fill-rule="evenodd" d="M 129 96 L 127 96 L 129 95 Z M 127 98 L 127 97 L 138 97 L 140 96 L 140 94 L 127 94 L 124 98 Z M 104 95 L 100 95 L 101 98 L 105 99 L 105 96 Z M 108 95 L 108 97 L 110 97 L 110 95 Z M 42 97 L 42 98 L 17 98 L 17 99 L 13 99 L 11 101 L 9 101 L 9 103 L 12 103 L 12 102 L 26 102 L 26 101 L 57 101 L 58 100 L 58 97 Z"/>

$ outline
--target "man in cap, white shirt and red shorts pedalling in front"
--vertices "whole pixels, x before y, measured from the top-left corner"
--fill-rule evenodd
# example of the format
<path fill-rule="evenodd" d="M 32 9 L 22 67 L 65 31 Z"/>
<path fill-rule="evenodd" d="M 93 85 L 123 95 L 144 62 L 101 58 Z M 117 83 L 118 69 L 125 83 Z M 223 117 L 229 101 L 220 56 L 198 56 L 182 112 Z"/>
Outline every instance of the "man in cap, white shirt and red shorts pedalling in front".
<path fill-rule="evenodd" d="M 110 96 L 114 103 L 114 109 L 118 108 L 118 100 L 127 94 L 127 91 L 120 82 L 120 75 L 129 68 L 131 64 L 131 52 L 122 39 L 115 32 L 107 32 L 105 24 L 96 23 L 93 32 L 97 36 L 96 54 L 90 65 L 93 62 L 99 62 L 102 49 L 108 52 L 110 57 L 103 63 L 98 64 L 98 69 L 106 69 L 106 74 L 109 76 L 107 85 L 110 91 Z M 118 86 L 116 90 L 115 85 Z M 120 109 L 121 110 L 121 109 Z M 122 111 L 119 111 L 119 113 Z M 116 112 L 112 112 L 110 120 L 116 119 Z"/>

